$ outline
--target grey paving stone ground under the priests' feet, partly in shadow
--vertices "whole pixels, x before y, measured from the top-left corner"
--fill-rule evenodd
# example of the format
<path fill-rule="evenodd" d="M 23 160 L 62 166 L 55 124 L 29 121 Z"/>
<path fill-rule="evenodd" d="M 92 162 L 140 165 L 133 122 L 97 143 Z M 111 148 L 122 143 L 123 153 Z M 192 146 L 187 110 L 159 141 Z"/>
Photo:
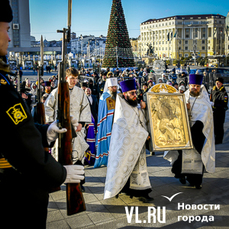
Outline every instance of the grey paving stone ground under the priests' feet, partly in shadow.
<path fill-rule="evenodd" d="M 88 166 L 85 168 L 86 211 L 67 216 L 63 185 L 61 191 L 50 194 L 47 229 L 229 228 L 229 112 L 226 115 L 224 143 L 216 146 L 215 173 L 204 174 L 202 189 L 197 190 L 189 185 L 180 184 L 173 177 L 171 165 L 163 159 L 162 152 L 157 152 L 153 156 L 147 154 L 147 165 L 153 188 L 150 193 L 154 197 L 153 203 L 142 203 L 137 198 L 131 199 L 124 194 L 119 195 L 118 199 L 103 200 L 106 167 L 94 169 Z M 171 202 L 163 197 L 171 197 L 179 192 L 181 193 Z M 178 210 L 178 204 L 183 203 L 187 209 Z M 198 206 L 199 210 L 188 210 L 193 204 Z M 214 208 L 217 205 L 220 206 L 219 210 Z M 128 207 L 129 213 L 131 207 L 134 207 L 131 222 L 128 222 L 125 207 Z M 135 207 L 138 207 L 138 212 Z M 155 222 L 153 217 L 150 217 L 151 223 L 148 222 L 149 207 L 152 207 L 151 212 L 154 208 L 161 210 L 157 209 Z M 166 208 L 165 219 L 162 214 L 163 207 Z"/>

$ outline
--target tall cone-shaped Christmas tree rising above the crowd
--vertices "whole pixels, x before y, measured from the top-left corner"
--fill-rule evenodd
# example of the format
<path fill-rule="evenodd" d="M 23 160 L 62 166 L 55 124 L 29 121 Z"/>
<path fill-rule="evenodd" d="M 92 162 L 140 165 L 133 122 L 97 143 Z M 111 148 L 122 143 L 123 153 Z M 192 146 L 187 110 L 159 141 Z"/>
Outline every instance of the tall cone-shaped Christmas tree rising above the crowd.
<path fill-rule="evenodd" d="M 122 3 L 121 0 L 113 0 L 103 67 L 134 67 L 134 65 Z"/>

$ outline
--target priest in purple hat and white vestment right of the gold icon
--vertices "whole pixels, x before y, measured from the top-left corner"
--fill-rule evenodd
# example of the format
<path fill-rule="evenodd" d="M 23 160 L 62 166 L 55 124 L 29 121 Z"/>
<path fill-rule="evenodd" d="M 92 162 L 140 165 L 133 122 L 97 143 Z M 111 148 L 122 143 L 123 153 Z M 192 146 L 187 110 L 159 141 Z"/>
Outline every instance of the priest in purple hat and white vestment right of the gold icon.
<path fill-rule="evenodd" d="M 175 178 L 182 184 L 188 181 L 197 189 L 202 187 L 204 170 L 215 171 L 213 113 L 202 80 L 202 75 L 190 74 L 189 90 L 185 92 L 194 149 L 169 151 L 164 155 L 172 163 Z"/>

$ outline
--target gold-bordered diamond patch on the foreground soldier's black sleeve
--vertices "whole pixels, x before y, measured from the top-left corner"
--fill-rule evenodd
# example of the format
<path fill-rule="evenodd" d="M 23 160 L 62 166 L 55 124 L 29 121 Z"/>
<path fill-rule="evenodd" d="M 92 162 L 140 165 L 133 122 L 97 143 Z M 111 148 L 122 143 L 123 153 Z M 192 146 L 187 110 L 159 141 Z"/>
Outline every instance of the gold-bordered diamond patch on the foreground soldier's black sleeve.
<path fill-rule="evenodd" d="M 19 122 L 27 119 L 26 112 L 21 103 L 17 103 L 13 107 L 10 107 L 10 109 L 8 109 L 6 113 L 15 125 L 18 125 Z"/>

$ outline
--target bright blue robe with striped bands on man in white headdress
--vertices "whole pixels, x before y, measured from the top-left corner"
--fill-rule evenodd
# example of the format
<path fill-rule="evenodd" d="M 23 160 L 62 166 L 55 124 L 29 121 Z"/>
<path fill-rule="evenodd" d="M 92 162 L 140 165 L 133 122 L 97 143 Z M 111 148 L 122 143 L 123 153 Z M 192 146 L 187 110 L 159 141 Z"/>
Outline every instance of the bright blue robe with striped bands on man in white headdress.
<path fill-rule="evenodd" d="M 96 136 L 96 158 L 94 168 L 107 166 L 111 130 L 115 109 L 115 100 L 108 92 L 104 92 L 99 100 L 99 113 Z"/>

